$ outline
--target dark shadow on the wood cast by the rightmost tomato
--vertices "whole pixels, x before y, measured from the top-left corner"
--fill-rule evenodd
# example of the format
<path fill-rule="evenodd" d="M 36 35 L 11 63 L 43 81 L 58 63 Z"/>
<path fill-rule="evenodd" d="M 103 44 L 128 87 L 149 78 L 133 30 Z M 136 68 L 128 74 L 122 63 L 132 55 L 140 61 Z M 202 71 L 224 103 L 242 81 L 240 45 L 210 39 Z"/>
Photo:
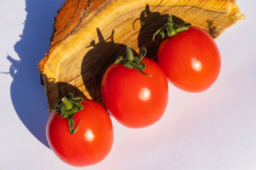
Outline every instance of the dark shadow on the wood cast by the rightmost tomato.
<path fill-rule="evenodd" d="M 172 15 L 172 14 L 171 14 Z M 137 21 L 140 21 L 140 32 L 138 35 L 138 46 L 139 48 L 147 48 L 147 56 L 154 61 L 157 60 L 157 38 L 152 40 L 154 33 L 167 23 L 168 14 L 160 14 L 160 12 L 151 12 L 149 5 L 147 4 L 145 10 L 140 13 L 140 17 L 134 20 L 133 26 Z M 177 25 L 185 23 L 179 17 L 172 15 L 172 20 Z M 135 28 L 134 28 L 135 29 Z"/>

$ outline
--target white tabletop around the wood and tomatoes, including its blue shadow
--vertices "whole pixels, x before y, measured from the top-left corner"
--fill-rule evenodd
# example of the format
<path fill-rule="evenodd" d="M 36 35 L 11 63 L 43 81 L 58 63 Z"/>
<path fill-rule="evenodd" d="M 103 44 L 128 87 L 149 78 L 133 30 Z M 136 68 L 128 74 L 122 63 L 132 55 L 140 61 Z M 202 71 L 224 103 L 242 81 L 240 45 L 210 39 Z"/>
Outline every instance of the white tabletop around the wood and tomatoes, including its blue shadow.
<path fill-rule="evenodd" d="M 204 93 L 169 84 L 163 118 L 143 129 L 114 119 L 111 153 L 76 168 L 50 150 L 38 62 L 64 0 L 0 0 L 0 170 L 256 170 L 256 1 L 238 0 L 246 20 L 216 42 L 221 73 Z M 11 61 L 11 62 L 10 62 Z"/>

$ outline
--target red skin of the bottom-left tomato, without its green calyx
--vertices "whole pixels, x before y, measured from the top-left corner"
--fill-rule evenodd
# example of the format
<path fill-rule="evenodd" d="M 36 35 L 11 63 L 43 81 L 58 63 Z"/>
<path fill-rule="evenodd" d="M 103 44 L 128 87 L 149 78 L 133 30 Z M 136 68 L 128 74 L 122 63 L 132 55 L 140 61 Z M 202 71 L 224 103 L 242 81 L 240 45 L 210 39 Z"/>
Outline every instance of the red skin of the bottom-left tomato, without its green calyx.
<path fill-rule="evenodd" d="M 110 152 L 113 145 L 113 126 L 105 108 L 99 103 L 83 99 L 84 109 L 74 116 L 75 128 L 81 120 L 79 129 L 72 135 L 68 118 L 52 111 L 47 120 L 47 141 L 59 159 L 75 167 L 96 164 Z"/>

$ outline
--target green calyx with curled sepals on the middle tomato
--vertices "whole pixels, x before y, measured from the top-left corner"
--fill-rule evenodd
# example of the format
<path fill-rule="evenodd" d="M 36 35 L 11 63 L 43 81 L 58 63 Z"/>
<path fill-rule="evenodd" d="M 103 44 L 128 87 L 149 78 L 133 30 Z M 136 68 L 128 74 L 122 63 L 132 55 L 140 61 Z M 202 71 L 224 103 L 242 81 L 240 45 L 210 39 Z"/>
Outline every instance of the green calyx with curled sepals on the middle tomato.
<path fill-rule="evenodd" d="M 138 71 L 140 71 L 140 73 L 144 74 L 145 76 L 152 77 L 143 72 L 143 70 L 146 69 L 146 66 L 143 62 L 140 62 L 145 57 L 146 53 L 147 53 L 147 49 L 145 47 L 142 47 L 140 49 L 140 56 L 134 57 L 131 47 L 127 46 L 126 47 L 126 58 L 123 59 L 122 56 L 117 57 L 116 61 L 114 62 L 113 65 L 116 66 L 116 63 L 120 62 L 120 63 L 123 63 L 123 65 L 126 68 L 129 68 L 129 69 L 136 68 Z"/>

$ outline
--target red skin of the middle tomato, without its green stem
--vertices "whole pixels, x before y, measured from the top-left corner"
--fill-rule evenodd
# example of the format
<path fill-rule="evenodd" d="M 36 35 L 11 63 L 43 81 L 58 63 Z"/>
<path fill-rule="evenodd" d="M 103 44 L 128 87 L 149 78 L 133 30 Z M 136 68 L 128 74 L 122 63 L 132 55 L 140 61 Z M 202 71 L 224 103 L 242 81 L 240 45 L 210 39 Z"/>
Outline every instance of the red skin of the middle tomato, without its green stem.
<path fill-rule="evenodd" d="M 122 125 L 142 128 L 157 122 L 168 103 L 168 82 L 160 66 L 151 59 L 141 60 L 145 74 L 122 63 L 110 65 L 102 78 L 102 97 L 111 115 Z"/>

